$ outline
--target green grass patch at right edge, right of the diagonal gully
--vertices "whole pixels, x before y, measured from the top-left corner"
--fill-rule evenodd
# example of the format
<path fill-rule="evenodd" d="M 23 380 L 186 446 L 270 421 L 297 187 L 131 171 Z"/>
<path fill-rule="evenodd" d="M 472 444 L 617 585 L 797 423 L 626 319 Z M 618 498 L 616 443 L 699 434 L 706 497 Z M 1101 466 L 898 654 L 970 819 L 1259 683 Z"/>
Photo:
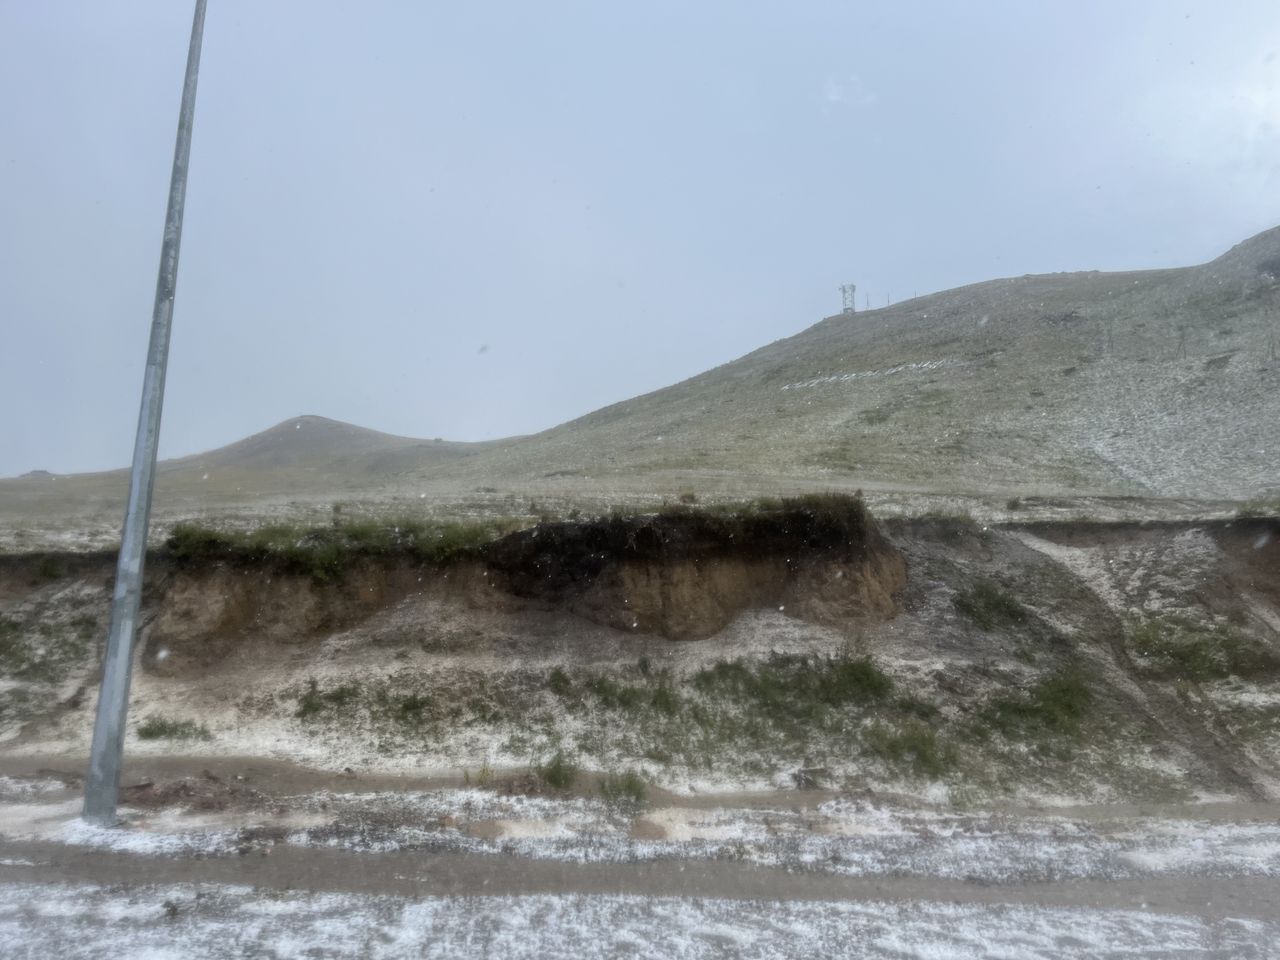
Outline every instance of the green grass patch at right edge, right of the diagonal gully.
<path fill-rule="evenodd" d="M 1185 617 L 1153 617 L 1129 631 L 1138 666 L 1158 677 L 1201 682 L 1222 677 L 1253 677 L 1280 669 L 1265 645 L 1221 625 Z"/>

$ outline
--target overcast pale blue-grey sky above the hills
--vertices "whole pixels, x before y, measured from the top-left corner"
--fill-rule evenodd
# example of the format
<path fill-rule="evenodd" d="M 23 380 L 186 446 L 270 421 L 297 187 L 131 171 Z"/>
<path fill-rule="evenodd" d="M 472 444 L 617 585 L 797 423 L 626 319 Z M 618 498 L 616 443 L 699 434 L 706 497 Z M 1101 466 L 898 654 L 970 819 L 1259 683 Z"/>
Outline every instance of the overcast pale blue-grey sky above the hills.
<path fill-rule="evenodd" d="M 129 461 L 191 10 L 0 0 L 0 475 Z M 161 454 L 536 431 L 842 282 L 1277 221 L 1275 0 L 209 0 Z"/>

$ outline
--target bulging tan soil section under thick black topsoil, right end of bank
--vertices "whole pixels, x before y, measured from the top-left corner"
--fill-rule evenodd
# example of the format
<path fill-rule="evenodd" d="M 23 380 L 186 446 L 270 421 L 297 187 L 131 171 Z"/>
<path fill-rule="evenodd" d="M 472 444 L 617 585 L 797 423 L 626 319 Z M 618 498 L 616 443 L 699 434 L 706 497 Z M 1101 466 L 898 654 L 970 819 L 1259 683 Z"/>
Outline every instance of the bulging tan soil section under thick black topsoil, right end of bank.
<path fill-rule="evenodd" d="M 901 553 L 860 500 L 841 497 L 543 524 L 485 559 L 508 593 L 671 640 L 710 636 L 756 607 L 828 625 L 887 620 L 906 585 Z"/>

